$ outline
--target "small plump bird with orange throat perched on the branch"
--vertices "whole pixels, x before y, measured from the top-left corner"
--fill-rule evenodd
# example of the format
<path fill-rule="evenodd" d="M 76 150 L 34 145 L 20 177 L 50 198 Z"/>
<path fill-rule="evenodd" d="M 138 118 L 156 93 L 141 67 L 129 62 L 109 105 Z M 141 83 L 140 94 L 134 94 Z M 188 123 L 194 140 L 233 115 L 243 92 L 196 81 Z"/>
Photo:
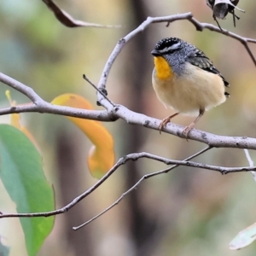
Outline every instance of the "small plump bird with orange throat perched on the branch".
<path fill-rule="evenodd" d="M 177 111 L 163 119 L 159 129 L 162 131 L 178 113 L 197 115 L 183 130 L 188 137 L 206 110 L 220 105 L 230 96 L 225 91 L 229 83 L 200 49 L 182 39 L 161 39 L 151 54 L 154 55 L 152 84 L 156 96 L 166 108 Z"/>

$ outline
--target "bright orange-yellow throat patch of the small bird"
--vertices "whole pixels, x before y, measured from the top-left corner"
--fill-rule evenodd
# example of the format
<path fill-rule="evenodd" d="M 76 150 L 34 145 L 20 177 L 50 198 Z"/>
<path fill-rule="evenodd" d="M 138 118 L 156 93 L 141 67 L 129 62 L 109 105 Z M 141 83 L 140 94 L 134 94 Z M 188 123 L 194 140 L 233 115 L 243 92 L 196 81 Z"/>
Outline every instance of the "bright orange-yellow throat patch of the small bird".
<path fill-rule="evenodd" d="M 163 57 L 154 57 L 156 77 L 161 80 L 172 79 L 172 68 Z"/>

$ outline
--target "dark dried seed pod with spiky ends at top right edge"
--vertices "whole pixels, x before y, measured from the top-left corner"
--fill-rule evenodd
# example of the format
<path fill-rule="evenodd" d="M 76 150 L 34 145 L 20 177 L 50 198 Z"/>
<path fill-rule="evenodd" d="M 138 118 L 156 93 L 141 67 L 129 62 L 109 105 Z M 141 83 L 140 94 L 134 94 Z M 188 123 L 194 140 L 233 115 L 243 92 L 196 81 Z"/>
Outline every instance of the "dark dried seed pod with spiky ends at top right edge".
<path fill-rule="evenodd" d="M 226 15 L 230 13 L 231 15 L 233 15 L 234 26 L 236 26 L 236 19 L 239 20 L 240 17 L 235 14 L 235 8 L 240 10 L 241 12 L 245 12 L 244 10 L 236 7 L 239 0 L 206 0 L 206 1 L 207 1 L 207 5 L 213 11 L 212 17 L 217 22 L 217 24 L 218 24 L 218 20 L 216 18 L 224 20 Z M 218 24 L 218 27 L 222 30 L 219 24 Z"/>

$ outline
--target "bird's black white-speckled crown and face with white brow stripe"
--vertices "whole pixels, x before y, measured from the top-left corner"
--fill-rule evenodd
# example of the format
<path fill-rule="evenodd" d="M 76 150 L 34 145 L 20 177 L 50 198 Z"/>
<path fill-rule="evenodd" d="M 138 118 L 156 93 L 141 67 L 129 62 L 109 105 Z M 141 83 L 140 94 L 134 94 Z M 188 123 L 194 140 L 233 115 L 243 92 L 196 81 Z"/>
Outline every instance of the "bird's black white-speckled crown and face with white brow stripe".
<path fill-rule="evenodd" d="M 156 45 L 151 54 L 154 56 L 172 54 L 181 48 L 183 40 L 179 38 L 164 38 L 161 39 Z"/>

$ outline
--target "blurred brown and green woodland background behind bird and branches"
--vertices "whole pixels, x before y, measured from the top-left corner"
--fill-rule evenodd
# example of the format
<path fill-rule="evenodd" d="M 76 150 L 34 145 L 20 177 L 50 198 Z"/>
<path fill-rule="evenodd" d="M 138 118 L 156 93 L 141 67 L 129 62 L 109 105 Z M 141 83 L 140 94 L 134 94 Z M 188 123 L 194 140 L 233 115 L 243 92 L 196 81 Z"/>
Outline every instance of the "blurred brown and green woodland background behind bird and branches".
<path fill-rule="evenodd" d="M 67 28 L 57 21 L 42 1 L 1 0 L 0 71 L 27 84 L 50 102 L 63 93 L 87 98 L 95 108 L 96 92 L 82 74 L 97 83 L 108 56 L 119 38 L 140 25 L 148 16 L 192 12 L 201 22 L 214 25 L 212 11 L 205 0 L 55 0 L 55 3 L 79 20 L 103 25 L 121 25 L 119 29 Z M 256 3 L 241 0 L 246 13 L 228 15 L 220 25 L 242 37 L 256 38 Z M 216 32 L 196 32 L 189 21 L 153 24 L 133 38 L 119 54 L 110 73 L 109 98 L 133 111 L 163 119 L 172 113 L 156 99 L 151 84 L 154 67 L 150 51 L 160 38 L 177 37 L 195 44 L 214 62 L 230 82 L 230 98 L 206 113 L 197 129 L 225 136 L 256 136 L 256 72 L 242 44 Z M 250 44 L 256 55 L 256 44 Z M 0 84 L 0 107 L 8 107 L 4 96 L 10 90 Z M 15 90 L 18 103 L 28 102 Z M 193 118 L 177 116 L 180 125 Z M 1 116 L 8 122 L 9 116 Z M 96 183 L 86 165 L 90 141 L 65 117 L 22 113 L 25 125 L 36 138 L 42 152 L 44 172 L 55 188 L 56 208 Z M 113 134 L 116 160 L 125 154 L 146 151 L 174 160 L 182 160 L 206 147 L 201 143 L 151 131 L 123 120 L 104 124 Z M 253 160 L 256 155 L 250 151 Z M 214 148 L 196 161 L 216 166 L 248 166 L 243 150 Z M 218 172 L 178 167 L 168 174 L 144 181 L 117 207 L 101 218 L 73 231 L 137 182 L 143 175 L 166 166 L 153 160 L 137 160 L 121 166 L 99 189 L 69 212 L 55 218 L 55 227 L 38 253 L 43 255 L 87 256 L 165 256 L 165 255 L 255 255 L 256 243 L 240 251 L 230 251 L 236 234 L 256 221 L 255 182 L 250 173 L 226 176 Z M 15 212 L 0 183 L 0 209 Z M 37 195 L 34 195 L 37 196 Z M 20 222 L 0 220 L 0 236 L 11 247 L 10 255 L 26 255 Z"/>

